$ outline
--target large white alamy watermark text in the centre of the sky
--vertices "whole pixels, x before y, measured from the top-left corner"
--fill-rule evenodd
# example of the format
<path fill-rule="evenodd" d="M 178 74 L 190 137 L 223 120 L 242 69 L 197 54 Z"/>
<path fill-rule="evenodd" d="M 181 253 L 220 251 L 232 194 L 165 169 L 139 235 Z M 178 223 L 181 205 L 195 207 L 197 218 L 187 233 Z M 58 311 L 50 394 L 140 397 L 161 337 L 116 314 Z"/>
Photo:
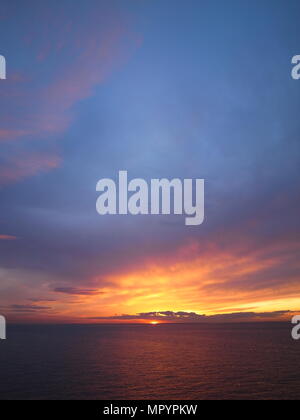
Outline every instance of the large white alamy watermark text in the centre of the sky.
<path fill-rule="evenodd" d="M 112 179 L 100 179 L 96 190 L 101 192 L 96 209 L 100 215 L 132 214 L 186 215 L 187 226 L 204 221 L 204 179 L 141 178 L 128 183 L 127 171 L 119 171 L 118 186 Z"/>

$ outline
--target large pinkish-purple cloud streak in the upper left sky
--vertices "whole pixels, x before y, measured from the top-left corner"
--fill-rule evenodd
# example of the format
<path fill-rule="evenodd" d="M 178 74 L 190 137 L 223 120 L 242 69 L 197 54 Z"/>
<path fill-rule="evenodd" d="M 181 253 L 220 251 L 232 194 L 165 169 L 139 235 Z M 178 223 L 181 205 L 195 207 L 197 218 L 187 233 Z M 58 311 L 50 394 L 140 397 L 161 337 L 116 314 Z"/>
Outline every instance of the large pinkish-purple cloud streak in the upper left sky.
<path fill-rule="evenodd" d="M 74 23 L 54 9 L 36 12 L 45 18 L 53 15 L 50 28 L 28 28 L 24 42 L 30 77 L 14 71 L 1 86 L 0 142 L 41 139 L 67 130 L 72 107 L 91 96 L 141 44 L 124 16 L 91 8 L 88 19 Z"/>

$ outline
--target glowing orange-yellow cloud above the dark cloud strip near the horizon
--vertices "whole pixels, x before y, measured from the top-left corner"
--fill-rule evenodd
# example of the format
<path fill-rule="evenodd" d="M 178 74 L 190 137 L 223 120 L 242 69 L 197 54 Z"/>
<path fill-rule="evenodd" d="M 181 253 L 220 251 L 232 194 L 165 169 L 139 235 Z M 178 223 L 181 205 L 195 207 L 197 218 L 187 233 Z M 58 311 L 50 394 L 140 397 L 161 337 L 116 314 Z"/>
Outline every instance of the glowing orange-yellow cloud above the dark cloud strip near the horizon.
<path fill-rule="evenodd" d="M 199 244 L 189 244 L 172 258 L 149 258 L 140 267 L 108 275 L 104 293 L 84 298 L 76 313 L 106 317 L 161 309 L 206 316 L 249 308 L 259 313 L 294 311 L 300 307 L 300 266 L 294 262 L 293 270 L 282 272 L 290 246 L 283 243 L 280 256 L 278 244 L 249 254 L 214 246 L 201 253 Z"/>

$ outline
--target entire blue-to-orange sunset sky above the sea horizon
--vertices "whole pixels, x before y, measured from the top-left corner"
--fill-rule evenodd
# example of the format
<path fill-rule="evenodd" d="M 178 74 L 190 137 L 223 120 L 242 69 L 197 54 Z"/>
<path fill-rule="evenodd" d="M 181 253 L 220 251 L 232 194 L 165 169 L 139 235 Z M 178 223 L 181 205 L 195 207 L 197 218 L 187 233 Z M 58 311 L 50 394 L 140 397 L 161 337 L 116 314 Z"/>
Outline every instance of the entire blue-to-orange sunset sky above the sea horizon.
<path fill-rule="evenodd" d="M 2 0 L 0 313 L 300 312 L 298 0 Z M 96 184 L 205 179 L 205 221 L 99 216 Z"/>

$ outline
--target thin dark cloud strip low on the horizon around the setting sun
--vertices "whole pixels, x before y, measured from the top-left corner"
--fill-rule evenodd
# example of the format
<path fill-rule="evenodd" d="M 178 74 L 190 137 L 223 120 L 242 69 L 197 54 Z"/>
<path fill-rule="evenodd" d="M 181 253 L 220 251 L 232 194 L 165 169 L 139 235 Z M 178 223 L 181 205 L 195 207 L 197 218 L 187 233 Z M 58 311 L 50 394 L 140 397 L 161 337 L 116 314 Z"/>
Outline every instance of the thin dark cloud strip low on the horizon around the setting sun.
<path fill-rule="evenodd" d="M 239 321 L 262 321 L 278 320 L 285 315 L 291 314 L 291 311 L 273 311 L 273 312 L 233 312 L 218 315 L 202 315 L 196 312 L 145 312 L 136 315 L 115 315 L 111 317 L 91 317 L 94 320 L 113 320 L 113 321 L 158 321 L 158 322 L 239 322 Z"/>

